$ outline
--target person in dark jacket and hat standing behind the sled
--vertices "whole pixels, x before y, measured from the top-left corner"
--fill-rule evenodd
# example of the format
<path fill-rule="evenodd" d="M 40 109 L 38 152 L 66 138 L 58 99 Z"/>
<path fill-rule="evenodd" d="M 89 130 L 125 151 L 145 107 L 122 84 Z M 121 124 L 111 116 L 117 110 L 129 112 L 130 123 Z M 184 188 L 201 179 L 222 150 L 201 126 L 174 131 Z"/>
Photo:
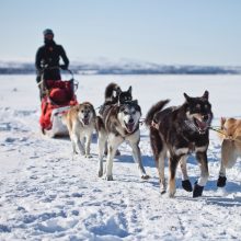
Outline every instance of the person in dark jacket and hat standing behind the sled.
<path fill-rule="evenodd" d="M 37 72 L 37 83 L 42 80 L 42 73 L 44 73 L 45 80 L 60 80 L 60 69 L 68 69 L 69 59 L 61 45 L 58 45 L 54 41 L 54 32 L 49 28 L 43 32 L 44 45 L 37 49 L 35 58 L 35 67 Z M 59 65 L 60 58 L 64 65 Z"/>

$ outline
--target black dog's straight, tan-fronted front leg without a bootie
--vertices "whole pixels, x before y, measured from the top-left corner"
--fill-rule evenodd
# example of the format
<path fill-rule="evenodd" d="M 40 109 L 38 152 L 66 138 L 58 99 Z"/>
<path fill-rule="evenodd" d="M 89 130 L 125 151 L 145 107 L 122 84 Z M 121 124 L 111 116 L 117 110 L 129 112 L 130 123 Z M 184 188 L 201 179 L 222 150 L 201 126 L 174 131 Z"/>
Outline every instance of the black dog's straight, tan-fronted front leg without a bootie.
<path fill-rule="evenodd" d="M 169 197 L 174 197 L 175 195 L 175 172 L 179 164 L 180 158 L 172 156 L 169 159 Z"/>

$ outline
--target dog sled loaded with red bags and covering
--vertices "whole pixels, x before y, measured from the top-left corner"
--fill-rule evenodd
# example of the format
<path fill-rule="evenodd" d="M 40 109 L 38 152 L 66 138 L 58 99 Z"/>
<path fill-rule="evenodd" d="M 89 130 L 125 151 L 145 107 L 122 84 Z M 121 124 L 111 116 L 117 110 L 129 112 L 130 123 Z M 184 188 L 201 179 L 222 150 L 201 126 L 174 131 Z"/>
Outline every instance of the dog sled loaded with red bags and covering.
<path fill-rule="evenodd" d="M 39 82 L 42 99 L 39 124 L 42 133 L 49 137 L 69 135 L 61 115 L 78 104 L 76 96 L 78 82 L 73 79 L 73 73 L 70 70 L 66 71 L 71 77 L 69 80 L 45 80 L 44 74 L 42 74 Z"/>

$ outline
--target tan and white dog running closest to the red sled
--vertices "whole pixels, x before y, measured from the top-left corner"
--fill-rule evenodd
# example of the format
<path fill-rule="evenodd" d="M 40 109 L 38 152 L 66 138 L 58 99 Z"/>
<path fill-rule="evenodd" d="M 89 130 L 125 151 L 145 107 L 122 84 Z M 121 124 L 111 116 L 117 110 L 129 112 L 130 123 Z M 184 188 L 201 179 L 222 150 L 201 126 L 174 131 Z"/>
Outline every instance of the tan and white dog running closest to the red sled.
<path fill-rule="evenodd" d="M 79 151 L 82 156 L 91 157 L 90 144 L 96 119 L 93 105 L 89 102 L 74 105 L 62 117 L 69 130 L 73 153 Z"/>

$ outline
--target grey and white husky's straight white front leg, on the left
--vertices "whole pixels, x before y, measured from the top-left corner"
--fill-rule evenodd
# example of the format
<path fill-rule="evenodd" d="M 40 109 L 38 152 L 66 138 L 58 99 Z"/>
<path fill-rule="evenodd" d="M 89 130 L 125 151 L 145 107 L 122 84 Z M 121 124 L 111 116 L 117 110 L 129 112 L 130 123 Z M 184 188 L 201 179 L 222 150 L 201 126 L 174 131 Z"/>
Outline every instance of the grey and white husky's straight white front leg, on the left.
<path fill-rule="evenodd" d="M 116 137 L 115 134 L 108 135 L 108 145 L 107 145 L 107 160 L 106 160 L 106 176 L 107 181 L 113 181 L 113 159 L 118 146 L 123 142 L 122 137 Z"/>

